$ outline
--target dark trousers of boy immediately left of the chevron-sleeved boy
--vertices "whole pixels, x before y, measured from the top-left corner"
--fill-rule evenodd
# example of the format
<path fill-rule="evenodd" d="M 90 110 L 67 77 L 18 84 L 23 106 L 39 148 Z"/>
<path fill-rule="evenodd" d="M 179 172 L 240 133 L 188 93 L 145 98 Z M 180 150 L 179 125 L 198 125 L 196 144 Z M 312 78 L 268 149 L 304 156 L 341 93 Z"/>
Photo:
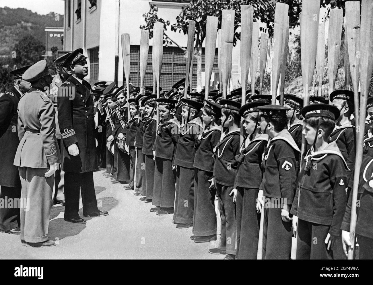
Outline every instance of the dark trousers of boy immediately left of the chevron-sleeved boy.
<path fill-rule="evenodd" d="M 257 259 L 260 213 L 256 210 L 259 189 L 237 187 L 236 259 Z"/>

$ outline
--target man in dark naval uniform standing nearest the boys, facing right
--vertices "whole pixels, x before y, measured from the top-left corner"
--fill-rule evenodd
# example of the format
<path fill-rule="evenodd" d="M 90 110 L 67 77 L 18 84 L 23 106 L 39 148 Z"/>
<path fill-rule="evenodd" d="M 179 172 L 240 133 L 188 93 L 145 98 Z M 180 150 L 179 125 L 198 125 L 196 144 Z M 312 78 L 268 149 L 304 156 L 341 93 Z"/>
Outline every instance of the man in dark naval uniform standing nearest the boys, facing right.
<path fill-rule="evenodd" d="M 73 51 L 63 63 L 71 71 L 58 92 L 58 121 L 60 123 L 62 170 L 65 171 L 65 221 L 82 223 L 79 217 L 79 189 L 82 193 L 83 215 L 109 215 L 97 208 L 93 170 L 97 168 L 94 137 L 94 116 L 91 85 L 83 80 L 88 65 L 81 48 Z"/>

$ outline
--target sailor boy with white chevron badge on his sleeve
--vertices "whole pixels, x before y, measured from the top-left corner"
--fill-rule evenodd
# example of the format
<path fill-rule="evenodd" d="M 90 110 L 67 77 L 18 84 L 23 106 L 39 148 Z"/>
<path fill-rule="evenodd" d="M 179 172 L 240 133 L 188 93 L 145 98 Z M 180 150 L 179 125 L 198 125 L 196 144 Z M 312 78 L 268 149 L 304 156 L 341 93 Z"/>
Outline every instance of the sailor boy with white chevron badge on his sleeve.
<path fill-rule="evenodd" d="M 290 259 L 291 216 L 300 149 L 286 127 L 287 107 L 258 107 L 261 131 L 270 137 L 263 153 L 263 180 L 259 187 L 257 209 L 264 207 L 263 259 Z M 265 203 L 263 196 L 266 197 Z M 263 204 L 264 203 L 264 204 Z"/>

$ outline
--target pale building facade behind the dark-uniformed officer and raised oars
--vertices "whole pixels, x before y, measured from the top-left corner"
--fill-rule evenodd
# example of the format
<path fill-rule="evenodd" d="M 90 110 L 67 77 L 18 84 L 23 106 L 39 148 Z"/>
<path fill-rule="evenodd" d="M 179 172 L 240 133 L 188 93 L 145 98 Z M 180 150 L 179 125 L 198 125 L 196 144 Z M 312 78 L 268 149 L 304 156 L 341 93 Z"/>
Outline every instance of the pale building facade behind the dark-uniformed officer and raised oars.
<path fill-rule="evenodd" d="M 120 0 L 119 9 L 119 35 L 128 33 L 131 41 L 131 67 L 130 78 L 134 86 L 140 85 L 140 26 L 145 24 L 143 14 L 147 13 L 150 5 L 158 7 L 159 18 L 169 20 L 170 25 L 176 23 L 176 17 L 181 8 L 189 3 L 188 0 Z M 97 81 L 114 81 L 115 72 L 115 0 L 65 0 L 65 51 L 72 51 L 76 48 L 83 48 L 88 55 L 90 73 L 87 80 L 91 84 Z M 186 47 L 187 36 L 183 33 L 172 32 L 169 27 L 167 35 L 182 47 Z M 120 39 L 120 37 L 119 37 Z M 152 39 L 149 40 L 148 64 L 145 75 L 145 85 L 153 85 L 152 79 Z M 216 45 L 217 46 L 217 45 Z M 235 48 L 236 49 L 236 48 Z M 203 48 L 204 50 L 204 48 Z M 217 52 L 217 51 L 216 51 Z M 234 61 L 233 57 L 233 61 Z M 233 63 L 234 66 L 234 63 Z M 197 63 L 194 58 L 192 86 L 197 83 Z M 233 67 L 234 69 L 234 67 Z M 211 81 L 217 82 L 218 76 L 217 53 L 213 68 Z M 234 70 L 233 70 L 234 73 Z M 122 48 L 119 44 L 119 72 L 118 84 L 124 81 Z M 172 83 L 185 77 L 184 51 L 176 45 L 163 47 L 162 73 L 160 87 L 169 89 Z M 232 76 L 233 77 L 233 76 Z M 202 58 L 202 85 L 204 82 L 204 54 Z M 213 85 L 211 82 L 210 85 Z"/>

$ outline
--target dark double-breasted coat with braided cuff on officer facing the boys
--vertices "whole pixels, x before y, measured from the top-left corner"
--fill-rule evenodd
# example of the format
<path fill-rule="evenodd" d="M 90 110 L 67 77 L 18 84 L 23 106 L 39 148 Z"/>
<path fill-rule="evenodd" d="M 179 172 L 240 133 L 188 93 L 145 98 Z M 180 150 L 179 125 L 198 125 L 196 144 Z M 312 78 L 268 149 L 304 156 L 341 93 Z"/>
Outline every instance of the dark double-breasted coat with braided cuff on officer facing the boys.
<path fill-rule="evenodd" d="M 59 88 L 57 104 L 63 140 L 62 169 L 75 173 L 95 170 L 98 165 L 91 85 L 85 80 L 81 84 L 71 75 Z M 68 151 L 74 143 L 79 148 L 77 156 Z"/>

